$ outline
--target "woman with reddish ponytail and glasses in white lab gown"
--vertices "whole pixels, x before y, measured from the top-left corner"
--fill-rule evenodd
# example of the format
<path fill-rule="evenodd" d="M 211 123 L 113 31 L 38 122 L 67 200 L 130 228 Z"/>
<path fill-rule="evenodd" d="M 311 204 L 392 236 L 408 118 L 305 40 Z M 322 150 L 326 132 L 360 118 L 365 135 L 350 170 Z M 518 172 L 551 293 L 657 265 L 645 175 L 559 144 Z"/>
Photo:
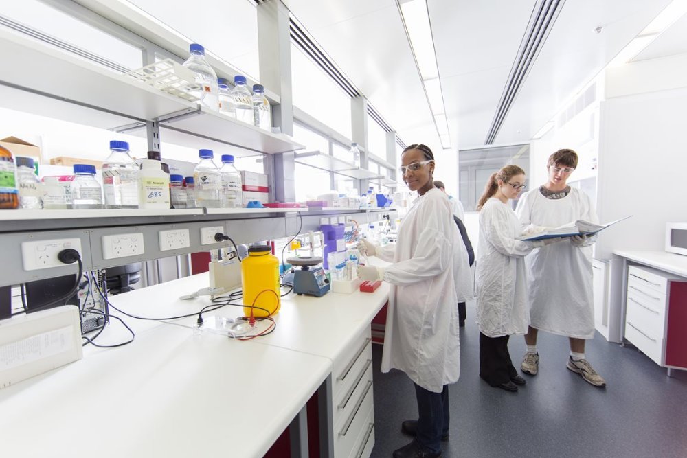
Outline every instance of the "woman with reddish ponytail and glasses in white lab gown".
<path fill-rule="evenodd" d="M 506 165 L 493 173 L 477 203 L 480 240 L 477 249 L 477 325 L 480 328 L 480 377 L 492 387 L 517 391 L 525 385 L 510 360 L 508 339 L 528 330 L 528 296 L 524 257 L 546 242 L 523 242 L 521 223 L 508 205 L 525 188 L 525 171 Z"/>

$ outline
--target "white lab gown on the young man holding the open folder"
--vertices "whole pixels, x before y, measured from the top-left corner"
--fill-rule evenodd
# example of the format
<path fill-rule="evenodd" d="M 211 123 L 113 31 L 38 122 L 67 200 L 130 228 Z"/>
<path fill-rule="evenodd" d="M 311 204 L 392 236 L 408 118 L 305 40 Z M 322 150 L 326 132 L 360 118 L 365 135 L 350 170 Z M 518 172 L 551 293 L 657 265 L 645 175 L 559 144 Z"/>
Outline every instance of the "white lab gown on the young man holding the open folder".
<path fill-rule="evenodd" d="M 574 187 L 560 199 L 545 198 L 539 188 L 526 192 L 515 214 L 523 225 L 598 223 L 591 199 Z M 576 247 L 566 239 L 535 249 L 526 258 L 532 328 L 577 339 L 594 337 L 591 245 L 595 241 L 593 236 L 585 247 Z"/>

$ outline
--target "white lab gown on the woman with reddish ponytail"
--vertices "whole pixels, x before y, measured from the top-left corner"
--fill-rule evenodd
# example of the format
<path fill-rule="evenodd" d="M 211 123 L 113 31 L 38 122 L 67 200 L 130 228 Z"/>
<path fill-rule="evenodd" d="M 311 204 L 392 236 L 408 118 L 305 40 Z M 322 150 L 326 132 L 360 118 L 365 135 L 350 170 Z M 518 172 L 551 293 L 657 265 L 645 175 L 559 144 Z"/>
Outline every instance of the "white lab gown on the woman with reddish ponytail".
<path fill-rule="evenodd" d="M 532 245 L 515 240 L 521 233 L 508 205 L 497 198 L 484 203 L 477 250 L 477 325 L 488 337 L 525 334 L 530 323 L 524 257 Z"/>

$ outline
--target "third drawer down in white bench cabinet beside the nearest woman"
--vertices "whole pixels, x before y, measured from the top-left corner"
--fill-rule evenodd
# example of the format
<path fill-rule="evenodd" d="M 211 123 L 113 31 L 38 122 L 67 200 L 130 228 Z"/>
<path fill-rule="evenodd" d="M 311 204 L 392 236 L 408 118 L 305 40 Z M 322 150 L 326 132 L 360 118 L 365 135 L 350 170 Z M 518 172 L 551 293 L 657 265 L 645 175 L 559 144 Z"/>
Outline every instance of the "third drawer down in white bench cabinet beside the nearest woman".
<path fill-rule="evenodd" d="M 372 380 L 359 385 L 361 393 L 354 394 L 355 404 L 348 416 L 341 417 L 334 427 L 334 457 L 346 458 L 350 456 L 356 439 L 367 429 L 369 423 L 366 422 L 368 413 L 373 406 Z M 358 391 L 358 389 L 356 389 Z"/>

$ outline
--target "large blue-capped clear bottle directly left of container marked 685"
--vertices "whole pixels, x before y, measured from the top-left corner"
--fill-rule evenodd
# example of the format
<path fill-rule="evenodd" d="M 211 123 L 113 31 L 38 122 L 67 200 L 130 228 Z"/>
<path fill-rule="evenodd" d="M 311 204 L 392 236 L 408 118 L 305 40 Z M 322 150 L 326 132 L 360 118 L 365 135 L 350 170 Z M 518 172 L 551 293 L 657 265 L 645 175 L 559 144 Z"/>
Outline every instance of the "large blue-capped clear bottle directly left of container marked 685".
<path fill-rule="evenodd" d="M 107 208 L 138 208 L 139 165 L 131 159 L 126 141 L 110 141 L 111 154 L 102 163 Z"/>

